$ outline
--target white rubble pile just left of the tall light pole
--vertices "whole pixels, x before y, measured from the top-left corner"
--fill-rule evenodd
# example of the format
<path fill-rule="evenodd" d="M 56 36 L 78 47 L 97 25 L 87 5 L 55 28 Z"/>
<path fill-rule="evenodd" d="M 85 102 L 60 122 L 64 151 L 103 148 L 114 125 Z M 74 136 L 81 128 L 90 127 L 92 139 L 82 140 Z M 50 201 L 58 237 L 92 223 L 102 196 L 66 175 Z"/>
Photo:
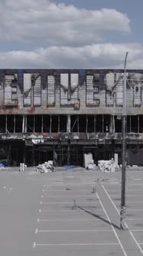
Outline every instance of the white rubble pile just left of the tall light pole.
<path fill-rule="evenodd" d="M 98 170 L 101 172 L 115 172 L 115 161 L 113 158 L 111 160 L 98 160 Z"/>

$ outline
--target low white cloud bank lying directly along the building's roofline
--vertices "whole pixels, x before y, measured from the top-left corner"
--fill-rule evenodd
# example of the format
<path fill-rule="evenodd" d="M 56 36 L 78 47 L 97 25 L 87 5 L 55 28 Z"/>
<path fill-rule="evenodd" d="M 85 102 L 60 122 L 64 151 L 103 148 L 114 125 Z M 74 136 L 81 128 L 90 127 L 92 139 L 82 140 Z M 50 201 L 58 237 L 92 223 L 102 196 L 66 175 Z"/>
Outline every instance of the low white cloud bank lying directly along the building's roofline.
<path fill-rule="evenodd" d="M 143 69 L 143 45 L 139 43 L 105 43 L 81 47 L 51 46 L 31 52 L 0 52 L 0 68 L 123 69 L 127 51 L 127 68 Z"/>

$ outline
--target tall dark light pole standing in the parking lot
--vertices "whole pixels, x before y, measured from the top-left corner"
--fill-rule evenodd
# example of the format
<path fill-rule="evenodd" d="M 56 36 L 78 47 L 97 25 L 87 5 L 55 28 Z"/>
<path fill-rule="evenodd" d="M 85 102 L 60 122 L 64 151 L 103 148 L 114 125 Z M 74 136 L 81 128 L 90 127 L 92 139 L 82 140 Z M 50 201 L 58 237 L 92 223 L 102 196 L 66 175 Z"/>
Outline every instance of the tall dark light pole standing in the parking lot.
<path fill-rule="evenodd" d="M 122 113 L 122 170 L 121 170 L 121 212 L 120 212 L 120 228 L 124 228 L 125 223 L 125 151 L 126 151 L 126 62 L 128 52 L 125 54 L 124 64 L 124 83 L 123 83 L 123 113 Z"/>

